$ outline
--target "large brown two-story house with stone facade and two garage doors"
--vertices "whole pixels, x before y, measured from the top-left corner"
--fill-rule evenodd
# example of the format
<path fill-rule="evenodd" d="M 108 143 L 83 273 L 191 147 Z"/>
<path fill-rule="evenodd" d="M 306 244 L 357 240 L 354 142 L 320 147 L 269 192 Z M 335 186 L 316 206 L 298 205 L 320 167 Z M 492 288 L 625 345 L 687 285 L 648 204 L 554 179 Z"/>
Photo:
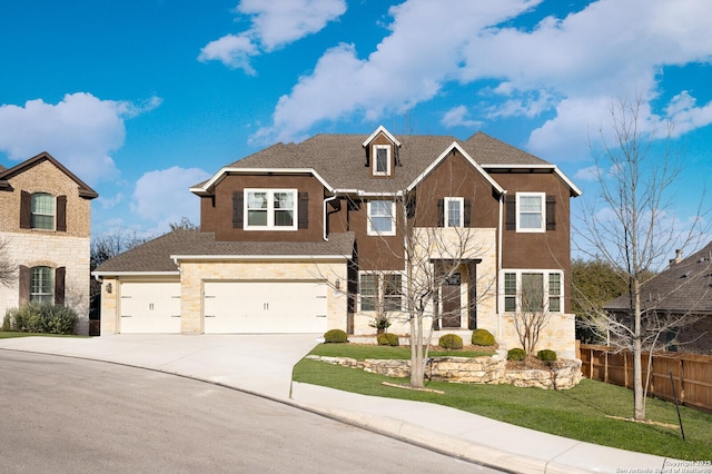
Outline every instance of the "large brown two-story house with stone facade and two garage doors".
<path fill-rule="evenodd" d="M 317 135 L 190 190 L 199 231 L 167 234 L 95 271 L 102 334 L 367 334 L 379 308 L 403 334 L 408 277 L 429 271 L 437 330 L 486 328 L 515 347 L 512 317 L 536 306 L 551 314 L 540 347 L 574 354 L 570 198 L 581 191 L 556 166 L 484 134 Z M 404 240 L 416 233 L 437 245 Z M 408 245 L 423 263 L 413 275 Z"/>

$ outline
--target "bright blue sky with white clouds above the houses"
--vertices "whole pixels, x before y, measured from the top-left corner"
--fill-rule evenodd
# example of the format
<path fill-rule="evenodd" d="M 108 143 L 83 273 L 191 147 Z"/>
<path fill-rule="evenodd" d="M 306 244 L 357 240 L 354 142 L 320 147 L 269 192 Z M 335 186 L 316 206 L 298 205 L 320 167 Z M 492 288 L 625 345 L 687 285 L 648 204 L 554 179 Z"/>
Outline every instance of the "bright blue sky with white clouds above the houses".
<path fill-rule="evenodd" d="M 221 166 L 378 125 L 484 131 L 594 196 L 589 136 L 636 93 L 684 145 L 681 220 L 712 172 L 709 0 L 4 1 L 0 46 L 0 164 L 49 151 L 100 194 L 95 235 L 197 223 Z"/>

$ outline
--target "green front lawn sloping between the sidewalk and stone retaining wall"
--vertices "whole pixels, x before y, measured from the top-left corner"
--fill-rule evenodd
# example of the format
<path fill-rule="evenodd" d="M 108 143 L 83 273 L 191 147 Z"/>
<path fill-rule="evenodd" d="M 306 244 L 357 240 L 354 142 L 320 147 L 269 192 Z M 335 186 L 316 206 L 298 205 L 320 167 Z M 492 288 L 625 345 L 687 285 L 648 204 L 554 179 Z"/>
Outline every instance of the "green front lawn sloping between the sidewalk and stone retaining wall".
<path fill-rule="evenodd" d="M 360 358 L 362 350 L 370 353 L 367 349 L 378 349 L 370 353 L 376 354 L 380 349 L 400 349 L 362 347 L 347 344 L 319 345 L 312 354 L 336 356 L 338 353 L 339 356 Z M 654 398 L 649 398 L 646 403 L 649 419 L 674 427 L 615 419 L 612 416 L 632 416 L 633 392 L 602 382 L 583 379 L 576 387 L 560 392 L 511 385 L 426 383 L 429 388 L 444 392 L 438 395 L 382 385 L 385 381 L 406 384 L 408 381 L 404 378 L 390 378 L 310 359 L 303 359 L 295 366 L 294 379 L 364 395 L 436 403 L 604 446 L 689 461 L 712 460 L 712 414 L 680 407 L 688 440 L 683 442 L 674 404 Z"/>

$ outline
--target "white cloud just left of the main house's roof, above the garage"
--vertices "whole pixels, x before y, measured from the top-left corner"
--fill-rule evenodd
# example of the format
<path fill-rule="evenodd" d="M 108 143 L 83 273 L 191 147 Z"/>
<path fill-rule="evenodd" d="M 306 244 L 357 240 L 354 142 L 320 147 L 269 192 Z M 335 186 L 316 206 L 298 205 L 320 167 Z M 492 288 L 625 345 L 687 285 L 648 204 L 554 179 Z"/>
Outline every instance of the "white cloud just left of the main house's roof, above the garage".
<path fill-rule="evenodd" d="M 199 199 L 188 189 L 209 176 L 199 168 L 178 166 L 148 171 L 136 182 L 131 211 L 154 223 L 156 228 L 162 231 L 168 229 L 168 224 L 179 223 L 182 217 L 198 224 Z"/>

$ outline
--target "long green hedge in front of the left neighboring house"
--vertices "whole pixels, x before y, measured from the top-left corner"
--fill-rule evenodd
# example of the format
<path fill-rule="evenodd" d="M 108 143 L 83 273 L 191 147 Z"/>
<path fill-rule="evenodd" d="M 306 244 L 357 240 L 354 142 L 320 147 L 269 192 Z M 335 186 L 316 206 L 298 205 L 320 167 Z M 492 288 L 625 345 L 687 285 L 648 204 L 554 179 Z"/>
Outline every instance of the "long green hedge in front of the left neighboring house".
<path fill-rule="evenodd" d="M 51 303 L 28 302 L 10 308 L 2 320 L 3 330 L 42 334 L 76 334 L 77 313 Z"/>

